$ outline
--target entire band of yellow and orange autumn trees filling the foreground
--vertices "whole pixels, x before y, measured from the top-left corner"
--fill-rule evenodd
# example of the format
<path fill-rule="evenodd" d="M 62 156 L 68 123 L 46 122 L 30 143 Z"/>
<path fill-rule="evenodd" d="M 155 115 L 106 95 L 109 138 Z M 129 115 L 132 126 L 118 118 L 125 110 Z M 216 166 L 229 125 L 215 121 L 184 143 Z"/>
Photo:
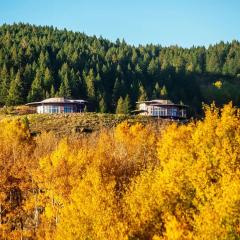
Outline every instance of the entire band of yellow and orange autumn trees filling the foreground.
<path fill-rule="evenodd" d="M 84 137 L 0 122 L 0 239 L 240 239 L 240 111 Z"/>

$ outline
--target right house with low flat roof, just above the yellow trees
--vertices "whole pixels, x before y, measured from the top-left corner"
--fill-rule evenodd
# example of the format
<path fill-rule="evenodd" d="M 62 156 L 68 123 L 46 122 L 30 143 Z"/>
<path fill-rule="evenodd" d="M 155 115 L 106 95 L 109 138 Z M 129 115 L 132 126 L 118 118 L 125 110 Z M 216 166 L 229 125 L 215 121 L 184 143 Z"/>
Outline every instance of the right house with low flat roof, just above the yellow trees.
<path fill-rule="evenodd" d="M 151 100 L 137 102 L 135 113 L 153 117 L 185 120 L 187 119 L 187 105 L 175 104 L 170 100 Z"/>

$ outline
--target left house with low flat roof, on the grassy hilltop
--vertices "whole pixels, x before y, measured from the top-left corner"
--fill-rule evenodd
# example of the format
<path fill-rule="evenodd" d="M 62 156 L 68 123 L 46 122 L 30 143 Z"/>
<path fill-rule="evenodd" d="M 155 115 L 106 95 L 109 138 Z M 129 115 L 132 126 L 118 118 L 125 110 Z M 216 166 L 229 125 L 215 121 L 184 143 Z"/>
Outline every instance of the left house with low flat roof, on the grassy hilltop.
<path fill-rule="evenodd" d="M 72 100 L 64 97 L 48 98 L 41 102 L 27 103 L 27 106 L 36 107 L 37 113 L 74 113 L 83 112 L 87 101 Z"/>

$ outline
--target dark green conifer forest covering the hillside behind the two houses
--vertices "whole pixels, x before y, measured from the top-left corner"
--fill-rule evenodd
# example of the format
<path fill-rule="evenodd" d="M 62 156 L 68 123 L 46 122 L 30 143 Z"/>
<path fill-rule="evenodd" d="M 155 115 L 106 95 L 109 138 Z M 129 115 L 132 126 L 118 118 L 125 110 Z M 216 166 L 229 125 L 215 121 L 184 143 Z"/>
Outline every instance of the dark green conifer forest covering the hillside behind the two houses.
<path fill-rule="evenodd" d="M 83 98 L 90 110 L 128 112 L 137 100 L 240 102 L 240 43 L 134 47 L 29 24 L 0 27 L 0 104 Z M 117 108 L 118 106 L 118 108 Z"/>

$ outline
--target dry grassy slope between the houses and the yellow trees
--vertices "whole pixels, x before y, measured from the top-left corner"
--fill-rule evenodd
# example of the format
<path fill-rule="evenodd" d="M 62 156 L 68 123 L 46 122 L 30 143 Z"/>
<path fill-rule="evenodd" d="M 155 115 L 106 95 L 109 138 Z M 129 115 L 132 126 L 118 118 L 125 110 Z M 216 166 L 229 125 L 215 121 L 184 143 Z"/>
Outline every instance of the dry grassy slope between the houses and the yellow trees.
<path fill-rule="evenodd" d="M 108 113 L 71 113 L 71 114 L 26 114 L 23 107 L 0 110 L 0 120 L 3 118 L 21 118 L 29 122 L 33 134 L 52 131 L 56 135 L 69 136 L 91 133 L 103 128 L 112 128 L 122 121 L 130 123 L 140 122 L 146 125 L 166 124 L 166 120 L 153 119 L 147 116 L 131 116 L 125 114 Z"/>

